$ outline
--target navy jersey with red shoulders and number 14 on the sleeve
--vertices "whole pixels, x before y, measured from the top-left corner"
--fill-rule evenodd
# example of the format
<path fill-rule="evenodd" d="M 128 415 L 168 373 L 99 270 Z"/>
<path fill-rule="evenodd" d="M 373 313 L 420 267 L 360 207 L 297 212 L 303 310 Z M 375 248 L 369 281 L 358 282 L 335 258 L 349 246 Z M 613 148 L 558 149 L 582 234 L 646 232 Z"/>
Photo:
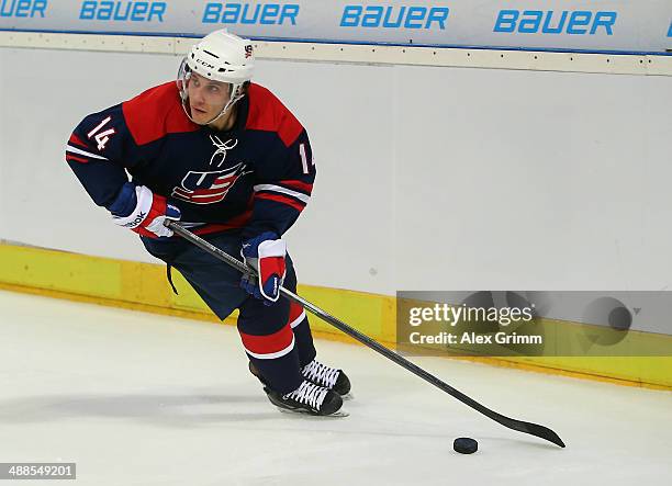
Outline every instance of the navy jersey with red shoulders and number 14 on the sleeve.
<path fill-rule="evenodd" d="M 259 84 L 250 83 L 237 105 L 231 131 L 201 126 L 186 115 L 176 83 L 167 82 L 85 117 L 66 160 L 100 206 L 110 208 L 131 178 L 168 197 L 197 234 L 282 235 L 313 189 L 307 134 Z"/>

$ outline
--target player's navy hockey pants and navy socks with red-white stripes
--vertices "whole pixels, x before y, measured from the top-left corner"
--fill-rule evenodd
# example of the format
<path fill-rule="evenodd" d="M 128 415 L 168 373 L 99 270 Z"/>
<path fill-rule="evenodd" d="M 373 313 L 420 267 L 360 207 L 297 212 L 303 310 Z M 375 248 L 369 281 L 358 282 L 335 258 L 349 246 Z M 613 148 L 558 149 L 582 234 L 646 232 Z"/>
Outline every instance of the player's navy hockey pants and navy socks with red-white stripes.
<path fill-rule="evenodd" d="M 238 231 L 203 238 L 242 260 Z M 303 381 L 300 368 L 316 354 L 309 320 L 300 305 L 283 297 L 265 305 L 239 286 L 240 272 L 178 236 L 141 239 L 149 253 L 187 279 L 220 319 L 239 309 L 237 328 L 243 347 L 271 388 L 289 393 L 299 387 Z M 296 290 L 296 274 L 289 255 L 283 286 L 292 292 Z"/>

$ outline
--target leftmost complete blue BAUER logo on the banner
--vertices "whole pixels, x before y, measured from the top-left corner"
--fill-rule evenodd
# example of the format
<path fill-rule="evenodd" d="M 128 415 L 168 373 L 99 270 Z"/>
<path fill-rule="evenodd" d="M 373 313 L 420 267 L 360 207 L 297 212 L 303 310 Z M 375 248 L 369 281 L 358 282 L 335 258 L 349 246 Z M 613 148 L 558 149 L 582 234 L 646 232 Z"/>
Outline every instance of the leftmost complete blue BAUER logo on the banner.
<path fill-rule="evenodd" d="M 164 22 L 166 2 L 94 1 L 81 2 L 80 20 L 111 22 Z"/>

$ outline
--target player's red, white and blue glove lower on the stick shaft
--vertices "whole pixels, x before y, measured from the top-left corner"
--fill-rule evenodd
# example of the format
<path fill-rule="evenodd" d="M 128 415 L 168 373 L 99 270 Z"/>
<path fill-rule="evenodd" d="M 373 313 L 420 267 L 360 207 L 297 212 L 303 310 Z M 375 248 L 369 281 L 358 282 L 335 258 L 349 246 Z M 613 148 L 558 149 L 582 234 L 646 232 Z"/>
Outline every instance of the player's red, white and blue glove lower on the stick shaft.
<path fill-rule="evenodd" d="M 261 235 L 243 242 L 240 255 L 245 263 L 257 270 L 259 278 L 249 274 L 243 275 L 240 286 L 256 298 L 271 305 L 280 297 L 280 286 L 284 280 L 284 256 L 287 246 L 275 233 Z"/>

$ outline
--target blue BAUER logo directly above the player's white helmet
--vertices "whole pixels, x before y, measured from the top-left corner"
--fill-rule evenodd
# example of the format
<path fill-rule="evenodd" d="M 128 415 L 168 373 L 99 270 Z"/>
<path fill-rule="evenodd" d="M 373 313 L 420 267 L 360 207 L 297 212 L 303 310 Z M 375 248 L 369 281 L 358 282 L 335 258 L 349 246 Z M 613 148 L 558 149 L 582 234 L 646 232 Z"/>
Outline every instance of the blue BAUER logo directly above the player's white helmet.
<path fill-rule="evenodd" d="M 208 2 L 203 10 L 204 24 L 296 25 L 299 5 L 257 2 Z"/>

